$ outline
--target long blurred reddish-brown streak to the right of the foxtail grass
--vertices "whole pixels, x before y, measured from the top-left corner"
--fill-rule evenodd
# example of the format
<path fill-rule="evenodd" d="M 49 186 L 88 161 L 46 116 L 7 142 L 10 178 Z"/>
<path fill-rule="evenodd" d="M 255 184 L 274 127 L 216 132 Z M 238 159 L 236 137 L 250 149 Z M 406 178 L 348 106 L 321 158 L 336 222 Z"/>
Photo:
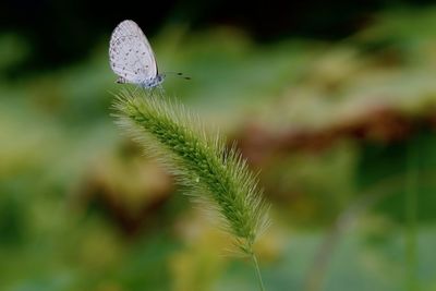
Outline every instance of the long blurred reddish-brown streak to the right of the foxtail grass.
<path fill-rule="evenodd" d="M 254 165 L 261 165 L 274 153 L 294 150 L 319 151 L 342 138 L 389 144 L 402 141 L 417 126 L 436 124 L 434 113 L 410 117 L 398 110 L 379 106 L 372 110 L 323 130 L 289 128 L 274 132 L 252 122 L 237 133 L 243 155 Z"/>

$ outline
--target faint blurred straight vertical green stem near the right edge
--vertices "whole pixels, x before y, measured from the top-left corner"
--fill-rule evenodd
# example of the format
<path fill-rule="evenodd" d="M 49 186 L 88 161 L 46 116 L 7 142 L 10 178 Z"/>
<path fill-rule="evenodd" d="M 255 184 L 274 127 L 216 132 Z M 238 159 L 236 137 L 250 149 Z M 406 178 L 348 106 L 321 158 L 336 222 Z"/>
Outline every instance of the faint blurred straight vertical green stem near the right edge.
<path fill-rule="evenodd" d="M 417 252 L 416 252 L 416 209 L 417 209 L 417 153 L 413 142 L 408 148 L 408 173 L 405 181 L 405 263 L 407 290 L 419 290 L 417 284 Z"/>

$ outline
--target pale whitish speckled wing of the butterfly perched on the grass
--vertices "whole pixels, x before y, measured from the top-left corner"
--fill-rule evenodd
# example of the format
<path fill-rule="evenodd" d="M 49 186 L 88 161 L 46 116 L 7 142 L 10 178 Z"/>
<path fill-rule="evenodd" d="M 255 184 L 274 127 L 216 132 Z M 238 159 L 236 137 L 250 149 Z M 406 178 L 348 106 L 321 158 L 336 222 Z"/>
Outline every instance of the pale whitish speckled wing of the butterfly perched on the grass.
<path fill-rule="evenodd" d="M 157 75 L 156 59 L 143 31 L 133 21 L 121 22 L 109 44 L 112 71 L 125 83 L 140 83 Z"/>

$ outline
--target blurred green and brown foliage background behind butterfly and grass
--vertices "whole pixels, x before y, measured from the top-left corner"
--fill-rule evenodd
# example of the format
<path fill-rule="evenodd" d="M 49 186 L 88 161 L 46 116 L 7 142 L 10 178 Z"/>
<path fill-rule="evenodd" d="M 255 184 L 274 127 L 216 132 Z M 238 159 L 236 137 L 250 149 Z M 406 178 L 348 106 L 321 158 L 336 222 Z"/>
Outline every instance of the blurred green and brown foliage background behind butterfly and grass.
<path fill-rule="evenodd" d="M 0 9 L 0 290 L 257 290 L 110 116 L 124 19 L 271 203 L 267 290 L 436 290 L 432 1 L 12 1 Z"/>

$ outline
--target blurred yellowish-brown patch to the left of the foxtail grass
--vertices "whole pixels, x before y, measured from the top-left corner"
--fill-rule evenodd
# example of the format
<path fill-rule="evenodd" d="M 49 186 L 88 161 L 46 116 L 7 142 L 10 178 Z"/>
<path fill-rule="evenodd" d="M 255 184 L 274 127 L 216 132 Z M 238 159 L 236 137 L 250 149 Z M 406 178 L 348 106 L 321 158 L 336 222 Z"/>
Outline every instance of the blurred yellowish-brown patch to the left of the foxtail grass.
<path fill-rule="evenodd" d="M 132 143 L 119 155 L 100 157 L 89 169 L 77 195 L 78 205 L 109 217 L 126 235 L 158 221 L 173 192 L 172 179 Z"/>

